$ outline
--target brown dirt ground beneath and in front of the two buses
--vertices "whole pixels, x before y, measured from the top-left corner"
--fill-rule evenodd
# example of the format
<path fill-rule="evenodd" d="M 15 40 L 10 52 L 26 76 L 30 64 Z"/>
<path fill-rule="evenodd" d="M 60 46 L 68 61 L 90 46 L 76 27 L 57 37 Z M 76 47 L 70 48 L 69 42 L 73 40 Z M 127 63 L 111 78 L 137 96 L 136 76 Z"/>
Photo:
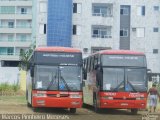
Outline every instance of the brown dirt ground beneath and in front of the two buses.
<path fill-rule="evenodd" d="M 69 119 L 69 120 L 142 120 L 142 116 L 146 115 L 147 111 L 139 111 L 138 115 L 131 115 L 129 110 L 101 110 L 100 113 L 95 113 L 93 111 L 93 108 L 88 106 L 86 108 L 77 109 L 76 114 L 71 114 L 68 110 L 64 109 L 40 108 L 36 109 L 36 112 L 33 112 L 33 109 L 28 108 L 25 104 L 23 105 L 0 104 L 0 115 L 1 115 L 0 119 L 2 119 L 3 114 L 9 114 L 9 115 L 41 114 L 41 115 L 54 116 L 54 118 L 52 117 L 47 119 Z M 58 118 L 57 116 L 60 117 Z M 160 120 L 160 117 L 154 120 Z"/>

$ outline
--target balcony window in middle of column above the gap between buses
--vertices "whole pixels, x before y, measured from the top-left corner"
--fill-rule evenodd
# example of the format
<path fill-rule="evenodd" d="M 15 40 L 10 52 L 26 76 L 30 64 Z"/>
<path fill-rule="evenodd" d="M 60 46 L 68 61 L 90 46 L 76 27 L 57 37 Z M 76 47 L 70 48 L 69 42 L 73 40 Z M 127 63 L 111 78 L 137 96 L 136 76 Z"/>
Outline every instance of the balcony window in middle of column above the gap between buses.
<path fill-rule="evenodd" d="M 92 26 L 93 38 L 112 38 L 111 26 Z"/>

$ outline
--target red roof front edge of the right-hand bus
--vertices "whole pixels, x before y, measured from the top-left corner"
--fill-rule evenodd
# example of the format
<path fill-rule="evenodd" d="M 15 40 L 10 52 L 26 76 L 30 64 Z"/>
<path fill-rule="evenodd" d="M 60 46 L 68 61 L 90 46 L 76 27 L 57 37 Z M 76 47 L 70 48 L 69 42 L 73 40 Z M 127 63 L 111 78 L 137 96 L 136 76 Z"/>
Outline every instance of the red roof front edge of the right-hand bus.
<path fill-rule="evenodd" d="M 131 50 L 102 50 L 102 51 L 99 51 L 98 54 L 145 55 L 143 52 L 137 52 L 137 51 L 131 51 Z"/>

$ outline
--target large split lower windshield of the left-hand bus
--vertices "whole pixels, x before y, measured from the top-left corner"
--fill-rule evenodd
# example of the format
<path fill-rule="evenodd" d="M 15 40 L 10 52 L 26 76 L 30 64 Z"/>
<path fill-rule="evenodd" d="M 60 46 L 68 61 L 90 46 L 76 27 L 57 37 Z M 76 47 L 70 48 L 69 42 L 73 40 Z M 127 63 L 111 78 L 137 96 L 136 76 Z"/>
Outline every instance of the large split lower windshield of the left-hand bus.
<path fill-rule="evenodd" d="M 35 67 L 36 90 L 81 90 L 81 68 L 78 66 L 44 66 Z"/>

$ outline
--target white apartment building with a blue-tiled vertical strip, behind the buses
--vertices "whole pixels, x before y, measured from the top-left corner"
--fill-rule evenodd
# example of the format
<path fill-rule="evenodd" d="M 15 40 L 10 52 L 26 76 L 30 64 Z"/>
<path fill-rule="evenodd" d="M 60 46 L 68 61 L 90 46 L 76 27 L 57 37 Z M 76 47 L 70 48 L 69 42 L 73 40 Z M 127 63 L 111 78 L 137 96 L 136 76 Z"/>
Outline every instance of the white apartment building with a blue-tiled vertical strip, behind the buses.
<path fill-rule="evenodd" d="M 103 49 L 141 51 L 160 81 L 159 0 L 37 0 L 37 6 L 37 46 L 76 47 L 84 57 Z"/>

